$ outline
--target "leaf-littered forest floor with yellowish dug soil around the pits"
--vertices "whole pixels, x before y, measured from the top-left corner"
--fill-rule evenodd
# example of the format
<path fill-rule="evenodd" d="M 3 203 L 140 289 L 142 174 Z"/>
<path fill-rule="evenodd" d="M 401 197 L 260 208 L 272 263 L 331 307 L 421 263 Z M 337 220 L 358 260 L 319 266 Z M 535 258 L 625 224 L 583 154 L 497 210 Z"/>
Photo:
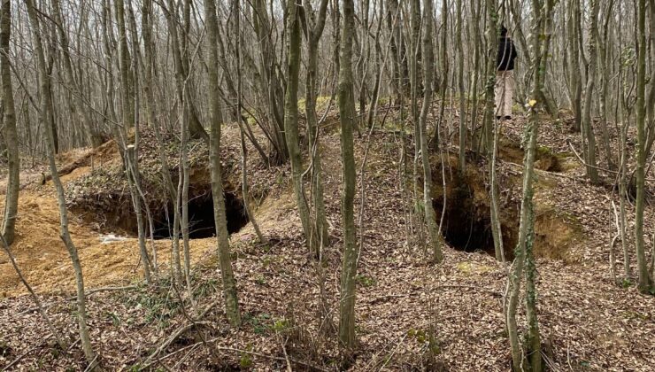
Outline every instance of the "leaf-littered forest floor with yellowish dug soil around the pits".
<path fill-rule="evenodd" d="M 515 216 L 521 191 L 523 124 L 524 120 L 517 118 L 501 130 L 504 140 L 498 174 L 508 244 L 519 224 Z M 115 145 L 105 143 L 99 149 L 60 157 L 60 168 L 70 171 L 63 176 L 71 208 L 70 229 L 88 290 L 126 287 L 89 294 L 89 329 L 104 368 L 338 370 L 334 326 L 341 272 L 341 158 L 338 132 L 334 128 L 323 132 L 323 182 L 332 245 L 325 249 L 322 265 L 304 248 L 289 167 L 266 168 L 256 152 L 250 151 L 255 216 L 270 243 L 259 244 L 250 223 L 231 235 L 243 314 L 241 329 L 227 328 L 215 238 L 190 242 L 195 267 L 193 306 L 186 291 L 171 290 L 170 239 L 156 241 L 159 283 L 144 286 L 137 239 L 127 223 L 129 193 L 120 176 Z M 148 184 L 148 180 L 158 174 L 158 159 L 151 138 L 145 138 L 140 167 L 149 195 L 157 199 L 160 190 L 156 182 Z M 243 198 L 237 129 L 227 127 L 222 143 L 226 191 Z M 483 213 L 488 207 L 484 197 L 486 160 L 469 154 L 466 176 L 458 181 L 457 149 L 433 155 L 439 214 L 444 208 L 439 200 L 446 198 L 445 260 L 434 265 L 426 259 L 424 247 L 406 239 L 399 143 L 397 124 L 375 130 L 370 143 L 366 135 L 356 140 L 358 182 L 364 154 L 370 150 L 364 167 L 365 185 L 361 188 L 358 183 L 355 205 L 356 221 L 360 221 L 361 191 L 365 190 L 365 215 L 358 227 L 358 239 L 363 239 L 356 305 L 358 350 L 351 369 L 506 371 L 511 360 L 502 314 L 507 267 L 488 254 L 490 233 Z M 586 181 L 584 168 L 568 144 L 580 148 L 579 138 L 569 133 L 566 124 L 544 123 L 539 143 L 543 147 L 536 176 L 536 254 L 544 358 L 551 370 L 651 371 L 655 298 L 639 294 L 634 277 L 623 280 L 620 243 L 613 252 L 623 285 L 616 285 L 610 273 L 609 242 L 615 234 L 611 202 L 619 205 L 612 182 L 592 185 Z M 198 143 L 192 148 L 191 189 L 193 197 L 202 201 L 207 197 L 206 149 Z M 171 145 L 168 150 L 173 174 L 177 174 L 177 149 Z M 65 353 L 58 351 L 53 335 L 3 254 L 0 368 L 84 370 L 73 311 L 73 270 L 58 237 L 53 187 L 51 182 L 42 182 L 41 172 L 38 168 L 22 173 L 26 181 L 21 182 L 18 236 L 12 252 L 59 336 L 70 346 Z M 440 191 L 443 183 L 445 192 Z M 654 183 L 648 186 L 652 190 Z M 457 190 L 461 192 L 454 192 Z M 166 202 L 153 202 L 153 212 L 164 209 L 163 205 Z M 200 202 L 196 206 L 206 208 Z M 471 208 L 471 213 L 458 213 L 458 208 L 464 207 Z M 648 205 L 646 231 L 655 229 L 654 214 L 655 207 Z M 629 221 L 633 215 L 628 204 Z M 629 228 L 631 231 L 631 225 Z M 124 238 L 106 242 L 108 234 Z M 651 234 L 646 243 L 648 247 L 655 244 Z M 628 245 L 634 251 L 631 241 Z M 512 248 L 505 247 L 508 251 Z M 634 267 L 634 257 L 631 262 Z M 321 308 L 328 309 L 327 318 L 321 316 L 326 314 Z M 201 312 L 204 317 L 189 327 L 194 314 Z M 524 324 L 522 313 L 520 322 Z M 169 338 L 179 329 L 186 331 Z M 435 336 L 432 341 L 430 329 Z"/>

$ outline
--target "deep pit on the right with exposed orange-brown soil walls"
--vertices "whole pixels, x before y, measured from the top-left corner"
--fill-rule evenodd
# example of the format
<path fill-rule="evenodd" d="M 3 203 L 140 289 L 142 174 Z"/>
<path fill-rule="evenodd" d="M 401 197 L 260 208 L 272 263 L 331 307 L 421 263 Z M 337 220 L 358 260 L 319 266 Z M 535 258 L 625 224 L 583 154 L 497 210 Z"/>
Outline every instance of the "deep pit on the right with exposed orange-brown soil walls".
<path fill-rule="evenodd" d="M 452 248 L 462 252 L 485 252 L 495 256 L 494 239 L 491 231 L 490 200 L 486 165 L 473 161 L 466 166 L 466 174 L 460 174 L 458 159 L 447 159 L 444 189 L 441 163 L 433 161 L 433 205 L 437 219 L 443 213 L 443 239 Z M 502 181 L 503 184 L 520 185 L 520 177 Z M 520 193 L 520 187 L 507 192 Z M 503 198 L 499 201 L 500 223 L 503 234 L 505 259 L 512 260 L 519 236 L 520 195 L 517 198 Z M 535 244 L 536 257 L 551 260 L 574 261 L 568 255 L 568 246 L 582 236 L 580 223 L 571 215 L 557 213 L 552 209 L 541 210 L 536 204 Z"/>

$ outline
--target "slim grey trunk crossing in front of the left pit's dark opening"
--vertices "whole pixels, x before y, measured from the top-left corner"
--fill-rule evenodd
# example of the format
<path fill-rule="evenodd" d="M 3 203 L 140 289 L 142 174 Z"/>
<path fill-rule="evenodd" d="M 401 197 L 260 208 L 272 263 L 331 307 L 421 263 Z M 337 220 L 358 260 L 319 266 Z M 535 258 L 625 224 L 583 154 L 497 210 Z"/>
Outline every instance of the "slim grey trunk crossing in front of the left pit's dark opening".
<path fill-rule="evenodd" d="M 210 104 L 210 165 L 212 167 L 212 197 L 214 204 L 214 221 L 216 222 L 217 240 L 219 246 L 220 275 L 223 279 L 223 295 L 227 322 L 233 327 L 241 325 L 239 301 L 236 296 L 235 275 L 232 272 L 232 259 L 227 236 L 227 217 L 225 212 L 225 197 L 223 196 L 223 180 L 220 174 L 220 97 L 219 97 L 219 52 L 217 37 L 219 34 L 216 19 L 216 3 L 214 0 L 204 0 L 204 21 L 207 27 L 207 73 Z"/>

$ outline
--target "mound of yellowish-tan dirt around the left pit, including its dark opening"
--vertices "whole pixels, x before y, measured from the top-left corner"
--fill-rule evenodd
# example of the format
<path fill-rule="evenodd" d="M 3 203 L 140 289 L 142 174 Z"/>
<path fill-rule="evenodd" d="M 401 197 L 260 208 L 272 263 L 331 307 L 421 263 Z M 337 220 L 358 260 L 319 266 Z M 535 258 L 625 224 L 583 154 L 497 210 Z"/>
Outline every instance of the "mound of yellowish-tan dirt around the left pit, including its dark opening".
<path fill-rule="evenodd" d="M 238 130 L 238 129 L 237 129 Z M 225 128 L 227 144 L 222 148 L 223 174 L 225 176 L 228 225 L 233 239 L 250 241 L 254 230 L 248 224 L 243 210 L 241 195 L 241 171 L 239 169 L 240 147 L 235 139 L 238 131 Z M 166 228 L 167 213 L 171 201 L 166 198 L 160 181 L 157 145 L 154 136 L 144 132 L 139 157 L 143 190 L 150 200 L 150 207 L 156 223 L 156 237 L 165 238 L 155 242 L 159 263 L 167 266 L 170 258 L 170 231 Z M 179 143 L 174 136 L 166 136 L 166 156 L 177 184 Z M 236 143 L 236 144 L 235 144 Z M 201 141 L 189 144 L 190 187 L 189 220 L 191 226 L 191 260 L 197 262 L 211 254 L 216 247 L 213 229 L 213 207 L 211 180 L 207 166 L 207 148 Z M 69 161 L 60 167 L 60 176 L 65 184 L 66 201 L 69 207 L 69 229 L 76 244 L 89 287 L 109 284 L 130 283 L 141 275 L 138 241 L 135 229 L 135 215 L 132 209 L 127 180 L 121 168 L 116 143 L 110 141 L 96 149 L 70 151 L 58 157 Z M 266 195 L 273 190 L 276 198 L 288 192 L 284 172 L 287 167 L 266 168 L 259 159 L 249 159 L 251 179 L 251 203 L 258 211 L 258 205 L 266 201 Z M 277 186 L 276 186 L 277 185 Z M 273 215 L 292 208 L 289 203 L 277 203 L 276 199 L 262 205 L 261 229 L 274 225 Z M 2 200 L 4 203 L 4 200 Z M 232 217 L 230 217 L 232 216 Z M 270 221 L 271 223 L 268 223 Z M 206 230 L 209 229 L 209 230 Z M 239 234 L 236 234 L 240 232 Z M 120 236 L 119 240 L 103 243 L 103 236 Z M 35 291 L 40 293 L 71 292 L 74 290 L 73 267 L 70 264 L 65 245 L 59 238 L 59 211 L 52 182 L 44 185 L 33 181 L 19 198 L 17 238 L 12 244 L 19 267 Z M 0 256 L 2 257 L 2 256 Z M 15 296 L 25 289 L 15 275 L 8 260 L 0 259 L 0 297 Z"/>

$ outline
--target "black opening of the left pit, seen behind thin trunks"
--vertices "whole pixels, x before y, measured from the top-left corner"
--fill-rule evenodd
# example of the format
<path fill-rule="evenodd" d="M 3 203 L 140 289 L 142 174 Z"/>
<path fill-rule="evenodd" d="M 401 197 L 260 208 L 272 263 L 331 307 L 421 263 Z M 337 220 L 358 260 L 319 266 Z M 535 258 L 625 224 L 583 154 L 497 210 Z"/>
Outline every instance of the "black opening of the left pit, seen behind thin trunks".
<path fill-rule="evenodd" d="M 227 232 L 233 234 L 248 223 L 248 216 L 243 201 L 235 194 L 225 193 Z M 168 239 L 173 236 L 173 203 L 154 213 L 156 239 Z M 212 193 L 206 192 L 189 198 L 189 238 L 203 239 L 216 236 Z"/>

